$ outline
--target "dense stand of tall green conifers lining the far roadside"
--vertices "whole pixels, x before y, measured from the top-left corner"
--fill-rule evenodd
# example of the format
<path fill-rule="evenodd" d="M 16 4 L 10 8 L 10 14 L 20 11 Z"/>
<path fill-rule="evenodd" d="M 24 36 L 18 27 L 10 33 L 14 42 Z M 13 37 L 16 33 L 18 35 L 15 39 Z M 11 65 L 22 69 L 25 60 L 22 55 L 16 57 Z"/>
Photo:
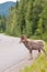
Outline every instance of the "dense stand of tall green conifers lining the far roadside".
<path fill-rule="evenodd" d="M 5 27 L 5 34 L 14 37 L 26 34 L 28 38 L 47 41 L 47 1 L 16 0 L 15 7 L 11 7 L 4 22 L 0 24 Z"/>

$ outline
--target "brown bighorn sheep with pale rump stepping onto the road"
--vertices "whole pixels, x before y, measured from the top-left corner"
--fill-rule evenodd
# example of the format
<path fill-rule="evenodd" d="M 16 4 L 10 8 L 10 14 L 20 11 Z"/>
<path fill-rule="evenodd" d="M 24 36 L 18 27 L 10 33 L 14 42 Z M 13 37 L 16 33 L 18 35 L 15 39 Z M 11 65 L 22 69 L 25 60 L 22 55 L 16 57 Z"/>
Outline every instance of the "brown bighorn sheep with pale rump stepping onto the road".
<path fill-rule="evenodd" d="M 46 54 L 45 42 L 43 40 L 28 40 L 26 35 L 21 37 L 21 42 L 30 50 L 30 53 L 32 54 L 32 50 L 38 50 L 40 53 L 40 50 Z"/>

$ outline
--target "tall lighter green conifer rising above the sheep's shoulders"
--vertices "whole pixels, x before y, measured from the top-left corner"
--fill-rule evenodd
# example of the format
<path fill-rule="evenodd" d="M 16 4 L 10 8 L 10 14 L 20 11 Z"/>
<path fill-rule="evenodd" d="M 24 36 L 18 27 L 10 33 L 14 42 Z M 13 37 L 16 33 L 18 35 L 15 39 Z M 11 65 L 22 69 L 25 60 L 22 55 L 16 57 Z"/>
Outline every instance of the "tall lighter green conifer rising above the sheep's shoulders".
<path fill-rule="evenodd" d="M 34 0 L 30 0 L 27 3 L 27 11 L 26 11 L 26 16 L 25 16 L 25 21 L 26 21 L 26 34 L 27 37 L 30 37 L 32 34 L 32 24 L 33 24 L 33 3 Z"/>

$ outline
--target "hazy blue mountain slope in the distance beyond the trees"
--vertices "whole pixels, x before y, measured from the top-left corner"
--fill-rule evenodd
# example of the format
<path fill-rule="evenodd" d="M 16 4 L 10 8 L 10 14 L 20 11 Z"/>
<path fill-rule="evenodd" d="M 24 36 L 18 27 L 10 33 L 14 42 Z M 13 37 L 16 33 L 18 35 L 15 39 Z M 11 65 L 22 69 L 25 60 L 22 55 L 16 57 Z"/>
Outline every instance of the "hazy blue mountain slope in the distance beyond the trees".
<path fill-rule="evenodd" d="M 9 9 L 14 6 L 15 6 L 15 2 L 13 1 L 0 3 L 0 16 L 8 16 Z"/>

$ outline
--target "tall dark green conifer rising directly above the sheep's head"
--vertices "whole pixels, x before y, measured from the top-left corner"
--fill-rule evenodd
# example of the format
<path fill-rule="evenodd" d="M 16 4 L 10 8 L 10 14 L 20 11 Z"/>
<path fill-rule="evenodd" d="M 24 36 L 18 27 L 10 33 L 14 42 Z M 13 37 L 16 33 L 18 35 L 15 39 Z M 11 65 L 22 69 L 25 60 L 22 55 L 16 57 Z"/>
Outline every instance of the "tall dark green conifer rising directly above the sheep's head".
<path fill-rule="evenodd" d="M 28 0 L 20 0 L 20 6 L 19 6 L 19 27 L 21 34 L 25 33 L 26 29 L 26 23 L 25 23 L 25 13 L 27 9 L 27 2 Z"/>

